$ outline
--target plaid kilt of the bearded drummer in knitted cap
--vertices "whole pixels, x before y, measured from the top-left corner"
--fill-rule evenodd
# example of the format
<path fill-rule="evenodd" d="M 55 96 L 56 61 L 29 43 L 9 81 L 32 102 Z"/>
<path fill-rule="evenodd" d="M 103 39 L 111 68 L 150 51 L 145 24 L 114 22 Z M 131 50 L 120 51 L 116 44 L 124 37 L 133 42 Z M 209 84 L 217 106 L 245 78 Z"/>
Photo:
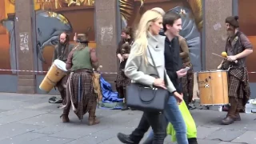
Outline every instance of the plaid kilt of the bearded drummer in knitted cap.
<path fill-rule="evenodd" d="M 233 97 L 237 101 L 239 98 L 243 99 L 242 106 L 245 106 L 249 100 L 250 86 L 246 67 L 229 71 L 229 97 Z M 230 105 L 232 104 L 230 103 Z"/>

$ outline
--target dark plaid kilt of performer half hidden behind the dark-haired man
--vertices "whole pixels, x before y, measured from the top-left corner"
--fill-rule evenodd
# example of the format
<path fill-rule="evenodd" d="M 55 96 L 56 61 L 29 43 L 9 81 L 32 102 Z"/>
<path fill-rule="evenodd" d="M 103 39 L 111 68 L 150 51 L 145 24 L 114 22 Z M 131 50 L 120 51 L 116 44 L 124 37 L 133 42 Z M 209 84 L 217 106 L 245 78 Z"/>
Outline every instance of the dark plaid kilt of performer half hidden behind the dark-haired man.
<path fill-rule="evenodd" d="M 181 78 L 181 82 L 182 82 L 182 93 L 184 96 L 188 97 L 186 98 L 188 102 L 191 102 L 193 98 L 193 90 L 194 90 L 193 68 L 188 70 L 186 76 Z"/>

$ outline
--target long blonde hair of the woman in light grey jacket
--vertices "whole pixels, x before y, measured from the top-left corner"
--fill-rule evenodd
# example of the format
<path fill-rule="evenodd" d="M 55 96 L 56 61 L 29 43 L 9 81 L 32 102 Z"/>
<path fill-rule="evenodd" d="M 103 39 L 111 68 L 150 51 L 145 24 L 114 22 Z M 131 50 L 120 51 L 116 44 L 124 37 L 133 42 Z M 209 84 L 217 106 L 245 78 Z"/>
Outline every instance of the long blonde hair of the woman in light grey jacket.
<path fill-rule="evenodd" d="M 157 21 L 159 18 L 162 18 L 162 14 L 160 14 L 158 11 L 146 10 L 138 23 L 138 29 L 135 34 L 135 43 L 138 44 L 138 48 L 134 50 L 134 54 L 138 56 L 142 55 L 146 63 L 146 50 L 148 45 L 147 36 L 150 34 L 150 23 Z"/>

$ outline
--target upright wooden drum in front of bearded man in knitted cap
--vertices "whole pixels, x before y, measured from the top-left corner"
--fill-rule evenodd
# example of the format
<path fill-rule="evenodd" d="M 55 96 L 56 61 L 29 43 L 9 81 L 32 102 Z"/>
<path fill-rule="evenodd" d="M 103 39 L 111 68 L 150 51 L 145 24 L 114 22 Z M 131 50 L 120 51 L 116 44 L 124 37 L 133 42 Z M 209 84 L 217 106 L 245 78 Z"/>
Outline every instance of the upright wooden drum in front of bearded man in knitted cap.
<path fill-rule="evenodd" d="M 228 98 L 227 70 L 198 72 L 201 105 L 226 105 Z"/>

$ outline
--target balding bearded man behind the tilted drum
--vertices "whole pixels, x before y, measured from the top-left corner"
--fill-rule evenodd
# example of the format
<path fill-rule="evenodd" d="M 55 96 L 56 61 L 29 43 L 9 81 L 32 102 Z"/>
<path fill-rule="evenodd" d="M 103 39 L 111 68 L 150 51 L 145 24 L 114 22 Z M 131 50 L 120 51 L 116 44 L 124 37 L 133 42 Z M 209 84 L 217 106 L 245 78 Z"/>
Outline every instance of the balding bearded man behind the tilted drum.
<path fill-rule="evenodd" d="M 70 36 L 66 33 L 62 33 L 59 35 L 58 45 L 54 47 L 54 56 L 52 62 L 54 60 L 59 59 L 62 62 L 66 62 L 70 51 L 73 49 L 74 45 L 70 44 Z M 68 78 L 68 74 L 64 76 L 56 85 L 59 93 L 62 97 L 62 105 L 66 104 L 66 80 Z"/>

